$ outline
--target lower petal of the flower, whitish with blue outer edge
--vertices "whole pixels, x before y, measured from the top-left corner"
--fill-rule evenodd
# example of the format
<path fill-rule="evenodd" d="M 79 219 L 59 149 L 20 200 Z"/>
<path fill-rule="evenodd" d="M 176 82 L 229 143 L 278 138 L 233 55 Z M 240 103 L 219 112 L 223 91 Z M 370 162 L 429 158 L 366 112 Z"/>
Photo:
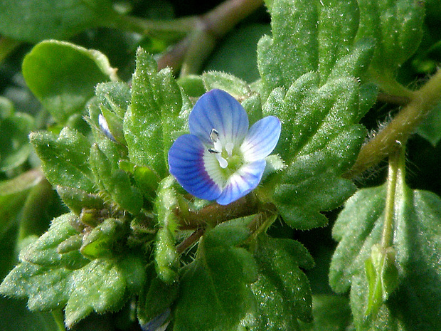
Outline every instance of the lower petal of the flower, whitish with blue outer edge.
<path fill-rule="evenodd" d="M 244 164 L 237 172 L 232 174 L 225 185 L 221 196 L 216 199 L 218 204 L 230 204 L 253 191 L 262 179 L 266 161 L 260 159 L 256 162 Z"/>

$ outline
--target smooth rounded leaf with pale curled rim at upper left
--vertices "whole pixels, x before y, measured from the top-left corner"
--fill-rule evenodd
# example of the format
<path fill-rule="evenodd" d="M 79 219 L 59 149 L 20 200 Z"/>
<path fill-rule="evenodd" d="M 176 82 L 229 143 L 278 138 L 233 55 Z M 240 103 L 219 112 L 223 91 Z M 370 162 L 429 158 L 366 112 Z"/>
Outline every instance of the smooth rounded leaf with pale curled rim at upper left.
<path fill-rule="evenodd" d="M 51 115 L 65 123 L 83 112 L 97 83 L 117 80 L 104 54 L 64 41 L 43 41 L 23 60 L 26 84 Z"/>

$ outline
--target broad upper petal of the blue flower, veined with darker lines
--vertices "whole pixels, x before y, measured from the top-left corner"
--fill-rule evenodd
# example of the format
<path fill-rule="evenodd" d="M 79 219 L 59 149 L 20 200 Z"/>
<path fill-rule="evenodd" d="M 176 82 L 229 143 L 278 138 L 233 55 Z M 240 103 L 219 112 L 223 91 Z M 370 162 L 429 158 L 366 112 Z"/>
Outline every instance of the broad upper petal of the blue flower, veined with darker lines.
<path fill-rule="evenodd" d="M 219 140 L 240 145 L 248 132 L 248 115 L 242 105 L 223 90 L 211 90 L 199 98 L 188 117 L 190 133 L 206 145 L 212 145 L 215 129 Z"/>

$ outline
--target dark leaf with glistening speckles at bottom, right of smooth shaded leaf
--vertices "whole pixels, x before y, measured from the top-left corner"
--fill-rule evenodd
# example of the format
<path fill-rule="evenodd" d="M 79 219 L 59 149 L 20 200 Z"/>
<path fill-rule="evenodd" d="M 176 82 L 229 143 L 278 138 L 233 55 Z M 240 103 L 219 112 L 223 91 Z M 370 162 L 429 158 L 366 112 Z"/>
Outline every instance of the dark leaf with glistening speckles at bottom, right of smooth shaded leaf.
<path fill-rule="evenodd" d="M 312 320 L 307 276 L 299 268 L 314 262 L 298 241 L 261 236 L 255 254 L 259 275 L 251 284 L 258 310 L 250 330 L 299 330 L 298 320 Z"/>

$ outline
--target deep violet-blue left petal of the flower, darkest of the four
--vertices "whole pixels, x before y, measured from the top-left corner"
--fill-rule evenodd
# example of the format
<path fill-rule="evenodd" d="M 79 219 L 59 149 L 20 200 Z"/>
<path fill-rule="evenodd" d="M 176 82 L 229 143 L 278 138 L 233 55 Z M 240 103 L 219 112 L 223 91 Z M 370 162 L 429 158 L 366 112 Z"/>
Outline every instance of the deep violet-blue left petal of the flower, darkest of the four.
<path fill-rule="evenodd" d="M 214 200 L 222 188 L 206 172 L 205 149 L 195 135 L 182 135 L 176 139 L 169 149 L 170 173 L 188 193 L 200 199 Z"/>

